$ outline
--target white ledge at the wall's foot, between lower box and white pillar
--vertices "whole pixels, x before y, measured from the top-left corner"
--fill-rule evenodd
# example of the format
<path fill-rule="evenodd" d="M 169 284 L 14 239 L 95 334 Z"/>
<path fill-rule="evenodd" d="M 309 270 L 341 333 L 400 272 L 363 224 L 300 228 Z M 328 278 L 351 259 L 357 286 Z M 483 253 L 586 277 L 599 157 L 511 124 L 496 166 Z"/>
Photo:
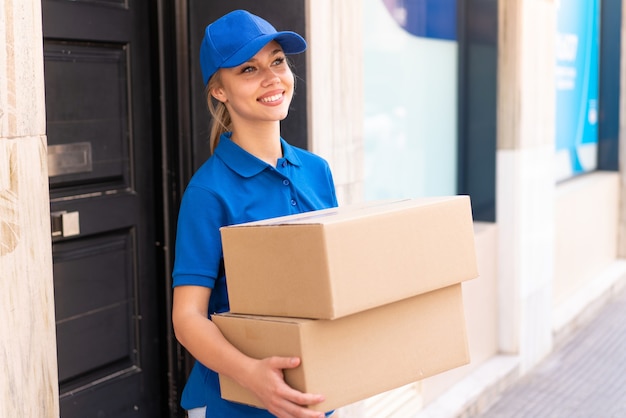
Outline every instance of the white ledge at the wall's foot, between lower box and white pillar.
<path fill-rule="evenodd" d="M 517 381 L 519 365 L 517 356 L 495 356 L 413 418 L 465 418 L 483 412 Z"/>

